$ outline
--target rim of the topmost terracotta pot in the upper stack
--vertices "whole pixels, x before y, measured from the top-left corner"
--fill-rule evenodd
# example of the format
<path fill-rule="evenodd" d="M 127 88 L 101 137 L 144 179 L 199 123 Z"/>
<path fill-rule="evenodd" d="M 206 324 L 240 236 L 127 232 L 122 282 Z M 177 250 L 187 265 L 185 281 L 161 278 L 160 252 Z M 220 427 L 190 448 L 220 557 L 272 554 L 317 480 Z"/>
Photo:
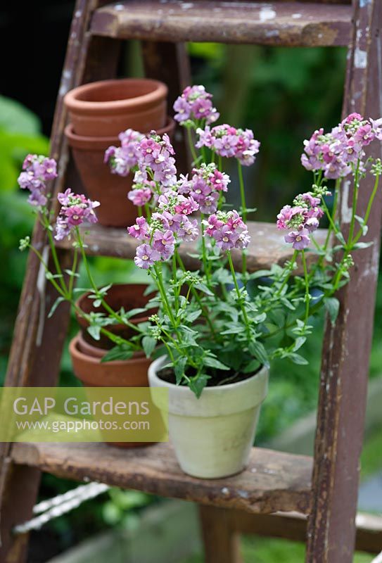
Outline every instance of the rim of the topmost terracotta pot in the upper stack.
<path fill-rule="evenodd" d="M 145 94 L 130 98 L 110 99 L 108 101 L 89 101 L 87 95 L 96 91 L 105 91 L 114 86 L 132 87 L 133 85 L 145 84 L 148 91 Z M 126 112 L 136 110 L 136 106 L 153 106 L 167 96 L 168 88 L 166 84 L 151 78 L 122 78 L 117 80 L 98 80 L 89 84 L 82 84 L 77 88 L 68 91 L 64 96 L 65 106 L 73 113 L 91 114 L 113 113 L 124 110 Z"/>

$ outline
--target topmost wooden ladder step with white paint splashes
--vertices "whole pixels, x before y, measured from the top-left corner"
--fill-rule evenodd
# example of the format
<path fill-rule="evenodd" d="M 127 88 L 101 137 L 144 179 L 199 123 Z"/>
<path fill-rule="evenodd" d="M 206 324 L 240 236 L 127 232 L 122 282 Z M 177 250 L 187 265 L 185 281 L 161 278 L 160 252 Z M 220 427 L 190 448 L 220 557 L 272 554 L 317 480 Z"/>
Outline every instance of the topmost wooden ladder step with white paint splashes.
<path fill-rule="evenodd" d="M 124 0 L 95 11 L 91 33 L 117 39 L 347 46 L 352 7 L 298 1 Z"/>

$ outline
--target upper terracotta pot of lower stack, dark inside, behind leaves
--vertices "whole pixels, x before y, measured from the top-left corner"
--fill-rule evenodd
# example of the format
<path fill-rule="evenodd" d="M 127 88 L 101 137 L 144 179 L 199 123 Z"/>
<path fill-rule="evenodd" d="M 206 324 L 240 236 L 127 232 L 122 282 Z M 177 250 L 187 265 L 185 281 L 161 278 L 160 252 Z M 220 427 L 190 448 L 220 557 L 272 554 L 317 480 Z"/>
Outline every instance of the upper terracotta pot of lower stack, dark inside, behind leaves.
<path fill-rule="evenodd" d="M 145 284 L 113 284 L 108 290 L 108 294 L 105 298 L 106 303 L 114 310 L 118 311 L 120 308 L 124 308 L 125 311 L 132 309 L 142 308 L 148 303 L 148 301 L 153 297 L 153 293 L 148 296 L 144 295 L 146 291 Z M 105 309 L 101 306 L 98 308 L 94 307 L 94 299 L 89 299 L 90 293 L 84 293 L 77 300 L 77 307 L 89 314 L 90 312 L 105 312 Z M 142 312 L 135 317 L 129 319 L 132 324 L 139 324 L 140 322 L 145 322 L 148 317 L 155 313 L 156 309 L 153 308 L 147 312 Z M 94 340 L 91 338 L 87 328 L 89 323 L 83 317 L 80 317 L 76 312 L 77 322 L 79 327 L 82 329 L 82 338 L 85 343 L 88 343 L 93 348 L 101 348 L 102 350 L 110 350 L 115 344 L 108 339 L 107 336 L 101 334 L 99 340 Z M 113 332 L 117 336 L 121 336 L 123 339 L 129 340 L 136 334 L 134 329 L 127 327 L 125 324 L 110 324 L 107 327 L 108 331 Z M 84 352 L 89 353 L 89 348 L 84 350 Z M 92 355 L 92 354 L 91 354 Z"/>

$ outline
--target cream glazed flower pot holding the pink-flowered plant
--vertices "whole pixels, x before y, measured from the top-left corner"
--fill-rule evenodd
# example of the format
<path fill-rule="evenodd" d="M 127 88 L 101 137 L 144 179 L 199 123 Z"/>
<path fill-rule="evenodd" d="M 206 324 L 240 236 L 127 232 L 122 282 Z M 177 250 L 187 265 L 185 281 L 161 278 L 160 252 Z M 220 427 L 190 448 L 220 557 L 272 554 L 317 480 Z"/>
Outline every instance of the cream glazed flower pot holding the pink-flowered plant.
<path fill-rule="evenodd" d="M 269 371 L 238 383 L 205 387 L 196 398 L 189 387 L 163 381 L 157 372 L 166 358 L 148 368 L 151 387 L 168 388 L 170 440 L 183 471 L 200 479 L 219 479 L 241 472 L 253 445 L 260 406 L 267 396 Z M 156 405 L 167 413 L 167 405 Z"/>

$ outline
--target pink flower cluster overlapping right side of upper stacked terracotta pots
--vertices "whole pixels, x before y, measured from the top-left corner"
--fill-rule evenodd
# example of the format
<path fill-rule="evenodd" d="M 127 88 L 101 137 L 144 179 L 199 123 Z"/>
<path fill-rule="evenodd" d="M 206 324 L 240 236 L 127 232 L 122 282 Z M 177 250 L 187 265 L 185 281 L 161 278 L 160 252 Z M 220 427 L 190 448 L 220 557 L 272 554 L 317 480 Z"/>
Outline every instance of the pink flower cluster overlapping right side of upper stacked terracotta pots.
<path fill-rule="evenodd" d="M 138 143 L 144 135 L 134 129 L 126 129 L 119 134 L 121 146 L 109 146 L 105 152 L 103 162 L 110 166 L 113 174 L 127 176 L 138 164 Z"/>

